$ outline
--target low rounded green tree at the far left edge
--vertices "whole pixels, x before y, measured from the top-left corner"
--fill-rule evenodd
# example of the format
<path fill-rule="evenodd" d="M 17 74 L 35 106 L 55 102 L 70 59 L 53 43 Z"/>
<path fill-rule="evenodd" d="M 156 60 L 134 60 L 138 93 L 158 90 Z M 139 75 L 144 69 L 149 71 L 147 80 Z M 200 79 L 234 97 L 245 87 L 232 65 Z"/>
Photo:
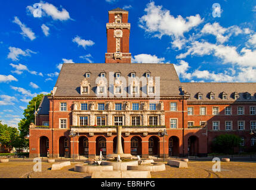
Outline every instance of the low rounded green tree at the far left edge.
<path fill-rule="evenodd" d="M 2 124 L 0 121 L 0 143 L 8 150 L 17 147 L 19 143 L 19 132 L 17 128 Z"/>

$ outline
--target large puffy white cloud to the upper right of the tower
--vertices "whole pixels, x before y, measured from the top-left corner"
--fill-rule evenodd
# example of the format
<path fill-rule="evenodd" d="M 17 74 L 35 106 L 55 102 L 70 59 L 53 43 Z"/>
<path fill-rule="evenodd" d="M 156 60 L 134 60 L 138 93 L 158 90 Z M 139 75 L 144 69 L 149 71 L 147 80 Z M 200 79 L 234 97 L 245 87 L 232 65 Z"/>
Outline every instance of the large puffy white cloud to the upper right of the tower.
<path fill-rule="evenodd" d="M 200 15 L 183 18 L 178 15 L 176 18 L 170 14 L 169 10 L 156 6 L 155 2 L 150 2 L 144 9 L 146 14 L 140 18 L 139 27 L 149 33 L 155 33 L 155 37 L 161 38 L 163 35 L 183 37 L 183 34 L 193 27 L 202 23 Z"/>

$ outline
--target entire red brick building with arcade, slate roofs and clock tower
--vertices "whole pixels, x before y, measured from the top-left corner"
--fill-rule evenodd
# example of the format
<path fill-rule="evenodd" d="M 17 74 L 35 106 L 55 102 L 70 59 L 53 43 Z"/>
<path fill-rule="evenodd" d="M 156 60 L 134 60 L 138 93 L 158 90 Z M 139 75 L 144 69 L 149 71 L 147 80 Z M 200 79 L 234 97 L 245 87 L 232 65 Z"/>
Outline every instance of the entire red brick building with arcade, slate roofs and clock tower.
<path fill-rule="evenodd" d="M 63 64 L 30 125 L 30 157 L 114 153 L 118 125 L 124 153 L 142 157 L 205 156 L 227 133 L 256 143 L 255 83 L 181 83 L 172 64 L 131 64 L 128 11 L 109 11 L 106 29 L 104 64 Z"/>

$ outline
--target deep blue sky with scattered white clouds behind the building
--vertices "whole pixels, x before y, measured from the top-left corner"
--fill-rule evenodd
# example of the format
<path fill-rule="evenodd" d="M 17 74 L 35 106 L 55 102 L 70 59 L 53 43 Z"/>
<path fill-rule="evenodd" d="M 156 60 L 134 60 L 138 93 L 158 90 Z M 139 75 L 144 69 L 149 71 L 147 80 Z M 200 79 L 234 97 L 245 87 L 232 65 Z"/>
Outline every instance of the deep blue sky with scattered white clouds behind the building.
<path fill-rule="evenodd" d="M 129 11 L 132 62 L 175 64 L 183 82 L 256 82 L 253 0 L 3 1 L 0 120 L 17 126 L 29 100 L 53 90 L 63 62 L 103 63 L 116 7 Z"/>

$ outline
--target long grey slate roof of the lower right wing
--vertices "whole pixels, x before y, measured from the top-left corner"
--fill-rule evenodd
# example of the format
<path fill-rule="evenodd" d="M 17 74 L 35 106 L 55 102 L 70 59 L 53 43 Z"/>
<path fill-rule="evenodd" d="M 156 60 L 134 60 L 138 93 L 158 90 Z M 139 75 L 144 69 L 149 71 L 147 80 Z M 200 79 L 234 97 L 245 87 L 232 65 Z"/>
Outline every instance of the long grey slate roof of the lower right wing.
<path fill-rule="evenodd" d="M 203 95 L 202 102 L 256 102 L 256 83 L 181 83 L 184 90 L 190 94 L 188 102 L 201 102 L 197 94 Z M 227 100 L 222 99 L 223 91 L 227 93 Z M 208 94 L 215 94 L 215 100 L 210 100 Z M 234 99 L 235 92 L 238 92 L 239 99 Z M 251 94 L 251 99 L 247 100 L 246 92 Z"/>

